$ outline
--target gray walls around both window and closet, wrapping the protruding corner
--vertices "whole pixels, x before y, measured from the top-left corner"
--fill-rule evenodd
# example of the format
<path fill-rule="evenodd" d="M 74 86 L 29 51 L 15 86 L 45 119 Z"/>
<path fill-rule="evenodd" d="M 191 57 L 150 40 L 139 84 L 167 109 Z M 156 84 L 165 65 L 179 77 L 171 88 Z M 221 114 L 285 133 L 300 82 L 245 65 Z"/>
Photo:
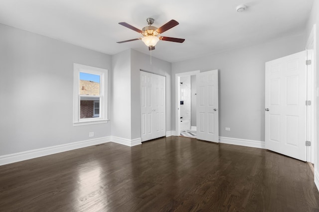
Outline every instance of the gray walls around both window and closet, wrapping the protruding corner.
<path fill-rule="evenodd" d="M 166 76 L 171 130 L 168 62 L 153 57 L 151 65 L 134 50 L 110 56 L 2 24 L 0 49 L 0 155 L 89 140 L 89 132 L 140 138 L 140 69 Z M 73 126 L 74 63 L 109 70 L 109 123 Z"/>

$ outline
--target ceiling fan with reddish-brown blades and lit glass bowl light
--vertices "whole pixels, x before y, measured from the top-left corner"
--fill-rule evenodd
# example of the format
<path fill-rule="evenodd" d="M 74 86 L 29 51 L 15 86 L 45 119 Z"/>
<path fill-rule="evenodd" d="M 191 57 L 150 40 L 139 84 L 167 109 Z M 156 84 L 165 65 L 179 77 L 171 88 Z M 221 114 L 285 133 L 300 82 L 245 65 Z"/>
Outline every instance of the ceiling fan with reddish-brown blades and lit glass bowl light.
<path fill-rule="evenodd" d="M 170 20 L 164 25 L 162 25 L 160 28 L 157 28 L 155 26 L 152 26 L 154 23 L 154 18 L 147 18 L 146 19 L 147 23 L 149 26 L 144 27 L 142 30 L 126 23 L 126 22 L 120 22 L 119 24 L 122 26 L 125 26 L 129 29 L 132 29 L 138 33 L 141 33 L 143 35 L 142 38 L 135 38 L 131 40 L 126 40 L 126 41 L 119 41 L 117 43 L 125 43 L 125 42 L 130 42 L 130 41 L 136 41 L 136 40 L 142 40 L 145 45 L 149 47 L 149 50 L 155 50 L 155 45 L 159 42 L 159 40 L 162 41 L 171 41 L 171 42 L 176 42 L 176 43 L 182 43 L 185 41 L 185 39 L 181 38 L 171 38 L 171 37 L 163 37 L 160 36 L 161 33 L 167 31 L 170 28 L 173 28 L 174 26 L 178 25 L 179 23 L 175 20 Z"/>

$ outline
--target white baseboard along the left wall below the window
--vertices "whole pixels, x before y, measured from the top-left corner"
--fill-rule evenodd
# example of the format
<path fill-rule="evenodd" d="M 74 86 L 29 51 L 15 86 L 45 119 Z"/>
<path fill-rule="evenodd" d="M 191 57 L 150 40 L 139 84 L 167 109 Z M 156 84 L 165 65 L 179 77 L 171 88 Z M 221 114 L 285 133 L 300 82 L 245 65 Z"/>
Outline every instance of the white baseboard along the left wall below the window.
<path fill-rule="evenodd" d="M 49 146 L 45 148 L 32 149 L 28 151 L 21 151 L 13 154 L 6 154 L 0 156 L 0 165 L 5 165 L 9 163 L 15 163 L 23 160 L 28 160 L 36 157 L 42 157 L 50 154 L 60 153 L 64 151 L 70 151 L 78 148 L 83 148 L 87 146 L 97 145 L 101 143 L 110 142 L 110 136 L 90 139 L 86 141 L 77 141 L 72 143 L 66 143 L 61 145 Z"/>

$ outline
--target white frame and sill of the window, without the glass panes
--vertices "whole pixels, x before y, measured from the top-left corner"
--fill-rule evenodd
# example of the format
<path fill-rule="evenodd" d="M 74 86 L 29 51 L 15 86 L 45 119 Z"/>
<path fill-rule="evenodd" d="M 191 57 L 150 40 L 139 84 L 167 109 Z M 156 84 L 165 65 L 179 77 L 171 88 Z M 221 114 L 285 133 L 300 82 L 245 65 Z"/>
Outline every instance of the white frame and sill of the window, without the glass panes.
<path fill-rule="evenodd" d="M 74 64 L 73 80 L 73 126 L 108 123 L 108 70 Z M 81 95 L 80 94 L 80 72 L 100 75 L 100 95 Z M 100 116 L 93 118 L 80 119 L 80 97 L 100 97 Z"/>

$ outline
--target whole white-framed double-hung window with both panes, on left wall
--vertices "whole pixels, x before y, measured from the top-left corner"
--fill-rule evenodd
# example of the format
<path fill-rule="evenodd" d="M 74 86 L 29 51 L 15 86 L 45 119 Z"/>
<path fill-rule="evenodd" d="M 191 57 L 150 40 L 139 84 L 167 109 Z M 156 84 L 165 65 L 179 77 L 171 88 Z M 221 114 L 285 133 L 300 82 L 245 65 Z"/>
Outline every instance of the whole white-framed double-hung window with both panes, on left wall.
<path fill-rule="evenodd" d="M 74 125 L 106 123 L 108 70 L 74 64 Z"/>

